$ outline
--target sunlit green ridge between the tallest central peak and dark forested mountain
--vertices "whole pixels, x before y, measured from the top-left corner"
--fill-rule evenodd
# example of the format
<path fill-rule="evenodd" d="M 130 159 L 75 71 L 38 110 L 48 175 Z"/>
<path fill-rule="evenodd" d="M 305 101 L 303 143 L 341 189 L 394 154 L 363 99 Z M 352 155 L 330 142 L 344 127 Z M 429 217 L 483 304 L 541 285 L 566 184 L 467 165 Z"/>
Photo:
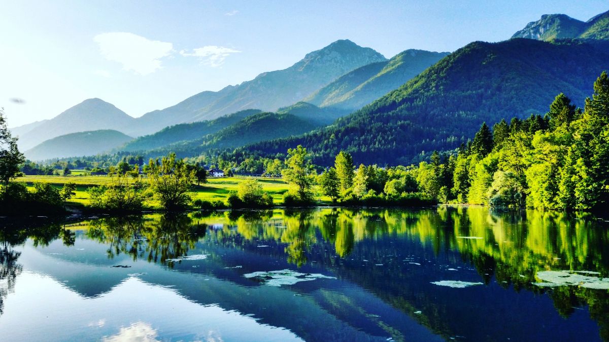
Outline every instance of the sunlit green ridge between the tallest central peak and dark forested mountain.
<path fill-rule="evenodd" d="M 322 107 L 354 111 L 397 89 L 448 52 L 406 50 L 389 61 L 372 63 L 345 74 L 305 99 Z"/>

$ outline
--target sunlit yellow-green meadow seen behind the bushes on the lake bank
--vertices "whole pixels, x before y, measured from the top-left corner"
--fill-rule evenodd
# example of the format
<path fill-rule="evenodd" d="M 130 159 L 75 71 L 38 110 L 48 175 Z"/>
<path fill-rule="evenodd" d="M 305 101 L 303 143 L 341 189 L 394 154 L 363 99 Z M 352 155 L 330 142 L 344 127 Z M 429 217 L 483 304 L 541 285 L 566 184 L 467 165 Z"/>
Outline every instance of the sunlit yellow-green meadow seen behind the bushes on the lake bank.
<path fill-rule="evenodd" d="M 224 201 L 228 198 L 228 193 L 231 190 L 237 190 L 239 183 L 244 180 L 252 179 L 253 177 L 222 177 L 222 178 L 208 178 L 209 183 L 196 184 L 192 186 L 192 192 L 190 193 L 193 200 L 202 199 L 208 201 L 220 200 Z M 276 178 L 253 178 L 262 183 L 262 189 L 268 192 L 276 204 L 281 203 L 284 192 L 287 191 L 288 186 L 281 179 Z M 23 176 L 16 178 L 15 181 L 26 183 L 28 187 L 32 187 L 33 183 L 49 183 L 54 186 L 62 187 L 63 184 L 72 182 L 76 184 L 76 195 L 71 198 L 69 203 L 71 204 L 88 204 L 89 194 L 86 190 L 92 186 L 100 186 L 104 184 L 110 184 L 110 177 L 108 176 Z M 146 178 L 144 178 L 146 181 Z M 146 206 L 157 207 L 158 203 L 150 199 L 146 201 Z"/>

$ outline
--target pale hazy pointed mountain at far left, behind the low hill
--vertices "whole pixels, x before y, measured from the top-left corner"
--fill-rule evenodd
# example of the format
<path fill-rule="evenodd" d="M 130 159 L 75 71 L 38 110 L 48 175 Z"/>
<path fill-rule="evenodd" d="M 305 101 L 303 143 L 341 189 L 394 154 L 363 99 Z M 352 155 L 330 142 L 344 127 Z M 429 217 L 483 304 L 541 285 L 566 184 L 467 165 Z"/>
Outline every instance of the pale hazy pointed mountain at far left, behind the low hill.
<path fill-rule="evenodd" d="M 20 135 L 19 148 L 29 150 L 48 139 L 83 131 L 117 130 L 130 134 L 134 122 L 133 117 L 111 103 L 88 99 Z"/>

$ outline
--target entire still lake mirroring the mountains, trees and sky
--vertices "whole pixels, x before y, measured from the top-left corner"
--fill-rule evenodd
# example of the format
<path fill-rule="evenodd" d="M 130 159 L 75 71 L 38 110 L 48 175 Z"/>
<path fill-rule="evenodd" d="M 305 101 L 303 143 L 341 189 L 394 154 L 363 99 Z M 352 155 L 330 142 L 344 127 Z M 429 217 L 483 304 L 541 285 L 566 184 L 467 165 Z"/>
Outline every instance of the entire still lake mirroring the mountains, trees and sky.
<path fill-rule="evenodd" d="M 92 218 L 0 246 L 2 341 L 609 340 L 609 225 L 586 214 Z"/>

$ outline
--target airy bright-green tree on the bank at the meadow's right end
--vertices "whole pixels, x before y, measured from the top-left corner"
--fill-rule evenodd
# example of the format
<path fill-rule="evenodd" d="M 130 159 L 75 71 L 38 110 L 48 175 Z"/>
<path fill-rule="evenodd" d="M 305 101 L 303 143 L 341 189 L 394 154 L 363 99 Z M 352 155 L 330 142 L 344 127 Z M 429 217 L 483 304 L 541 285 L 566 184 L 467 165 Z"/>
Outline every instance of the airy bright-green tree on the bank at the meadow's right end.
<path fill-rule="evenodd" d="M 312 175 L 311 160 L 307 158 L 306 148 L 298 145 L 287 150 L 286 169 L 281 170 L 283 179 L 296 188 L 298 198 L 311 200 L 311 188 L 315 183 Z"/>

